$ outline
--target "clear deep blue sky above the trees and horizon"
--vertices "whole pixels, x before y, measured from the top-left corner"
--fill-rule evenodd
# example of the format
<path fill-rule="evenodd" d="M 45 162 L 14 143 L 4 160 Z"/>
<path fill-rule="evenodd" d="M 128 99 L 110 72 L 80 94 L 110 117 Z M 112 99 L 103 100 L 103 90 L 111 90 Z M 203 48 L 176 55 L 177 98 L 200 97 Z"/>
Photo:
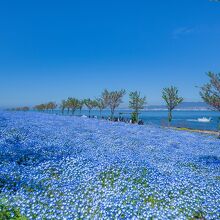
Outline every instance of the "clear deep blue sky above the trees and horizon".
<path fill-rule="evenodd" d="M 220 72 L 220 3 L 209 0 L 0 1 L 0 106 L 176 85 L 200 101 Z M 128 98 L 125 98 L 127 102 Z"/>

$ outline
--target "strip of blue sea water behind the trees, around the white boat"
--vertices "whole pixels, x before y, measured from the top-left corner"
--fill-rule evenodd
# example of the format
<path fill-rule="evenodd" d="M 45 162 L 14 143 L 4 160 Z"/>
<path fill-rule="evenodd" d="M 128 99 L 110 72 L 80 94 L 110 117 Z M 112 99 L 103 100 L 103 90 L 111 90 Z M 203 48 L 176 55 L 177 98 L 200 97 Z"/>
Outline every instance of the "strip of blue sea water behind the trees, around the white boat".
<path fill-rule="evenodd" d="M 60 114 L 60 112 L 58 112 Z M 126 119 L 130 118 L 131 111 L 129 110 L 116 110 L 115 116 L 120 115 Z M 65 112 L 67 114 L 67 112 Z M 158 126 L 167 126 L 167 111 L 141 111 L 139 116 L 145 124 L 154 124 Z M 70 112 L 71 115 L 71 112 Z M 79 111 L 75 112 L 75 115 L 80 115 Z M 81 115 L 89 115 L 88 110 L 82 110 Z M 110 115 L 109 110 L 104 110 L 102 116 L 108 117 Z M 92 110 L 91 116 L 100 117 L 98 110 Z M 210 122 L 199 122 L 198 118 L 211 118 Z M 214 111 L 173 111 L 173 121 L 171 126 L 174 127 L 185 127 L 200 130 L 218 130 L 218 118 L 220 117 L 219 112 Z"/>

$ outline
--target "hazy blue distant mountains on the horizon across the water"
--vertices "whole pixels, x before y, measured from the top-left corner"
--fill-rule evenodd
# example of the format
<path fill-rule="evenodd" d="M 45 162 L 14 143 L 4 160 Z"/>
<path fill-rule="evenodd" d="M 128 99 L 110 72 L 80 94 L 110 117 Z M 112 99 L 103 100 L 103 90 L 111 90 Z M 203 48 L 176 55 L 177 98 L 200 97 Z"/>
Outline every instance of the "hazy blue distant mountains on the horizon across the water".
<path fill-rule="evenodd" d="M 166 110 L 165 105 L 148 105 L 145 110 Z M 183 102 L 176 107 L 176 110 L 209 110 L 209 106 L 204 102 Z"/>

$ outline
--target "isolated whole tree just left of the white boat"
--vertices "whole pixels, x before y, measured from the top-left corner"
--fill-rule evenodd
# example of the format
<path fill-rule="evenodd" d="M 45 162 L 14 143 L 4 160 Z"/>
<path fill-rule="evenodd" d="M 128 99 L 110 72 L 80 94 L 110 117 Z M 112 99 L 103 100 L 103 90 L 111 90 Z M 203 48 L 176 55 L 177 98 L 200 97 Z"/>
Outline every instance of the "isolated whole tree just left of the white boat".
<path fill-rule="evenodd" d="M 179 105 L 183 98 L 178 96 L 178 89 L 174 86 L 170 88 L 164 88 L 162 91 L 162 98 L 165 100 L 168 108 L 168 121 L 169 123 L 172 121 L 172 111 Z"/>

